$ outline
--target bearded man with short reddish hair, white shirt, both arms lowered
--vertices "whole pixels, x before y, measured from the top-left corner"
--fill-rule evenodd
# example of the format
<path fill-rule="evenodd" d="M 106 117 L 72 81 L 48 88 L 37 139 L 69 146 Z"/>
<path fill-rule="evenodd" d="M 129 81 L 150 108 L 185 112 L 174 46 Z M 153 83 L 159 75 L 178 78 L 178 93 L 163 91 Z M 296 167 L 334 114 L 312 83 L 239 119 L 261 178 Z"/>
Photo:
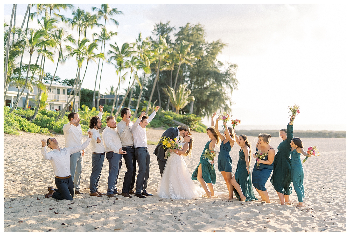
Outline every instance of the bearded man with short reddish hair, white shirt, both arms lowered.
<path fill-rule="evenodd" d="M 107 127 L 102 132 L 102 138 L 106 151 L 106 159 L 109 162 L 107 197 L 115 197 L 114 194 L 119 194 L 116 184 L 121 168 L 122 154 L 126 154 L 126 152 L 122 150 L 121 141 L 116 128 L 117 122 L 114 116 L 108 116 L 106 122 Z"/>

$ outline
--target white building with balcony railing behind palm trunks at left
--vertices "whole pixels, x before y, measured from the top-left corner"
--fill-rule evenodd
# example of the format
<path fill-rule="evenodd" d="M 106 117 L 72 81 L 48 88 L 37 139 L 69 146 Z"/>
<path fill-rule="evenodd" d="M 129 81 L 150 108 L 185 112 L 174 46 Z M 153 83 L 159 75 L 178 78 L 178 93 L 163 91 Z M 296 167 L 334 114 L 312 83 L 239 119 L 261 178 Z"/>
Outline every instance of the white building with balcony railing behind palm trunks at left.
<path fill-rule="evenodd" d="M 44 83 L 44 85 L 49 88 L 50 84 L 49 83 Z M 52 84 L 50 91 L 48 92 L 48 97 L 46 102 L 48 105 L 46 106 L 47 110 L 51 111 L 61 111 L 61 109 L 64 108 L 68 101 L 68 96 L 67 95 L 67 89 L 71 89 L 72 86 L 66 86 L 66 85 L 60 85 L 60 84 Z M 22 89 L 22 88 L 21 88 Z M 36 99 L 38 89 L 35 87 L 34 91 L 29 93 L 29 98 Z M 69 90 L 70 91 L 70 90 Z M 17 107 L 24 107 L 25 101 L 26 101 L 26 96 L 27 96 L 28 90 L 25 89 L 22 93 L 21 99 L 17 105 Z M 17 99 L 17 94 L 18 94 L 18 89 L 9 86 L 7 92 L 6 92 L 6 106 L 12 107 L 12 105 L 16 102 Z M 77 96 L 75 99 L 75 110 L 78 110 L 78 101 L 79 97 Z M 34 102 L 32 102 L 30 99 L 28 99 L 27 106 L 36 106 Z M 67 111 L 72 111 L 73 107 L 73 100 L 70 102 L 69 107 Z"/>

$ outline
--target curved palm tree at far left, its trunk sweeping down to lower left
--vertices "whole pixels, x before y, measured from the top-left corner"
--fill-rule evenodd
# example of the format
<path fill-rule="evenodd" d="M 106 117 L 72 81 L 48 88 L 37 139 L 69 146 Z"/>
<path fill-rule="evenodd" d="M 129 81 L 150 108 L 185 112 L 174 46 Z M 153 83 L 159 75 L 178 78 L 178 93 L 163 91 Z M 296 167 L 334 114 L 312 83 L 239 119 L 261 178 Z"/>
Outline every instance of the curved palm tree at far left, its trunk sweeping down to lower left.
<path fill-rule="evenodd" d="M 55 42 L 51 39 L 45 39 L 44 36 L 47 35 L 47 32 L 45 30 L 39 29 L 30 29 L 29 30 L 29 38 L 25 38 L 27 41 L 27 47 L 29 51 L 29 63 L 28 63 L 28 70 L 27 70 L 27 76 L 26 76 L 26 82 L 23 86 L 23 89 L 18 97 L 16 99 L 15 104 L 13 105 L 12 109 L 9 111 L 10 113 L 13 112 L 14 108 L 17 106 L 19 102 L 19 98 L 22 96 L 23 91 L 26 88 L 27 82 L 28 82 L 28 75 L 30 70 L 30 63 L 31 63 L 31 57 L 34 52 L 37 52 L 39 54 L 42 54 L 46 57 L 48 57 L 50 60 L 52 60 L 52 53 L 50 51 L 47 51 L 45 49 L 41 49 L 45 46 L 54 46 Z"/>

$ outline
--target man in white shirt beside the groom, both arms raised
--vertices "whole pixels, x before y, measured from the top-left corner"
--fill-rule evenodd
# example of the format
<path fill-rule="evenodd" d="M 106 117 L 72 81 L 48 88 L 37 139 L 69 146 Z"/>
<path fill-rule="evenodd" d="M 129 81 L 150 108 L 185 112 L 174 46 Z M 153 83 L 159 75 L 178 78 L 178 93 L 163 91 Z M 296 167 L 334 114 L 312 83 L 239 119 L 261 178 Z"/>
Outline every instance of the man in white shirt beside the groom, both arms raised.
<path fill-rule="evenodd" d="M 147 182 L 149 177 L 149 168 L 151 167 L 151 157 L 147 150 L 147 134 L 146 125 L 152 121 L 159 106 L 152 112 L 151 116 L 146 116 L 146 112 L 142 112 L 136 122 L 132 125 L 132 133 L 135 144 L 135 156 L 139 165 L 139 174 L 136 179 L 136 193 L 135 196 L 144 198 L 145 196 L 153 196 L 147 193 Z"/>

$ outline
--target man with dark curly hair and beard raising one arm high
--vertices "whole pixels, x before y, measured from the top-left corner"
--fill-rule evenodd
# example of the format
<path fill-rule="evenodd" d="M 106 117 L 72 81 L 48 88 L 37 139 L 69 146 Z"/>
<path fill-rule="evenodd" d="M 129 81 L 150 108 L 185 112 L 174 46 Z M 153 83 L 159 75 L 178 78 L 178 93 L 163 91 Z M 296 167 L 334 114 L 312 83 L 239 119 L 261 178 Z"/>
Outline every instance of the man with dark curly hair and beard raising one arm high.
<path fill-rule="evenodd" d="M 90 175 L 90 196 L 102 197 L 106 195 L 105 193 L 100 193 L 98 191 L 98 181 L 101 177 L 103 161 L 105 159 L 105 146 L 102 143 L 102 137 L 100 136 L 98 130 L 102 126 L 102 111 L 103 106 L 100 106 L 100 112 L 97 116 L 90 118 L 89 131 L 92 132 L 91 150 L 92 150 L 92 172 Z"/>

